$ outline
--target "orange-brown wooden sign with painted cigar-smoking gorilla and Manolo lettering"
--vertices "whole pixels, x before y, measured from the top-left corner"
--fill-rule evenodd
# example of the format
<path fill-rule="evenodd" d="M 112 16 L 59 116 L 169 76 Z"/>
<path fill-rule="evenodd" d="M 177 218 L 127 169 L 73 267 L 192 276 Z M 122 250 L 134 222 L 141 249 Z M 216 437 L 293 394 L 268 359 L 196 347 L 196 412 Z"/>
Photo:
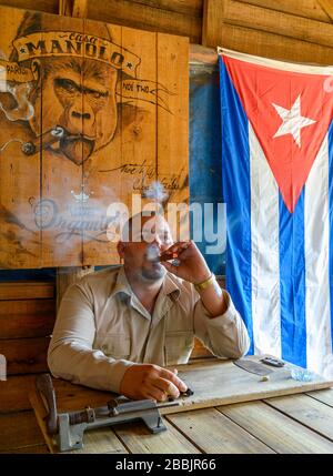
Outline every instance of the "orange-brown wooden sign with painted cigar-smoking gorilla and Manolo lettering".
<path fill-rule="evenodd" d="M 115 203 L 189 198 L 188 39 L 0 16 L 0 267 L 115 264 Z"/>

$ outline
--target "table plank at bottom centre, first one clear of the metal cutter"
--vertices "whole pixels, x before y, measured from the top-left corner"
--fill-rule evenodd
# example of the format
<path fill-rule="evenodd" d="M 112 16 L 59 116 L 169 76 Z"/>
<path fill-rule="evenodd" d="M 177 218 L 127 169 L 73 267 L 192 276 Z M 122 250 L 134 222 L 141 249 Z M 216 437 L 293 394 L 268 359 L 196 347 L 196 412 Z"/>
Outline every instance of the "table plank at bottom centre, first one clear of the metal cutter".
<path fill-rule="evenodd" d="M 215 408 L 169 415 L 168 419 L 203 453 L 274 453 Z"/>

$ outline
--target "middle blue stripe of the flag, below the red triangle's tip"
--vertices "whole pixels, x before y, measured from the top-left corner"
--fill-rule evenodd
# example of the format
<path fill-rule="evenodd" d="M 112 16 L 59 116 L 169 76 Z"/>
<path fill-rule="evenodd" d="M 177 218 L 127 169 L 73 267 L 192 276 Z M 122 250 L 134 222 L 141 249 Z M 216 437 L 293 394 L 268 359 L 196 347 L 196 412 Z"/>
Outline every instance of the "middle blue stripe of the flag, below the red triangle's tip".
<path fill-rule="evenodd" d="M 282 358 L 306 367 L 304 188 L 291 214 L 280 194 Z"/>

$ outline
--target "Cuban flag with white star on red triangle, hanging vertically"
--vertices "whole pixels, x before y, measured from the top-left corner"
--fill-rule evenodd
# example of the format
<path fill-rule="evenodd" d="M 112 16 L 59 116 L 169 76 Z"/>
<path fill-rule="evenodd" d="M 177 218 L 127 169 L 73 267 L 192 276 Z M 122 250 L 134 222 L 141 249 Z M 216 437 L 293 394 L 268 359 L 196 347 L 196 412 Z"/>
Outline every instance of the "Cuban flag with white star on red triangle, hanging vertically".
<path fill-rule="evenodd" d="M 219 62 L 226 288 L 251 354 L 332 377 L 333 69 Z"/>

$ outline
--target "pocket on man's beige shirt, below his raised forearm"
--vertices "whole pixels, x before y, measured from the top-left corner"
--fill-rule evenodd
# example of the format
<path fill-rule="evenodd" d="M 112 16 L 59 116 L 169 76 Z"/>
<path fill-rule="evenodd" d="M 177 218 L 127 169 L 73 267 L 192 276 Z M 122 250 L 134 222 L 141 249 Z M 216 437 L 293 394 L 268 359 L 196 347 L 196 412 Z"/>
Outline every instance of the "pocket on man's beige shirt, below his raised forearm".
<path fill-rule="evenodd" d="M 165 365 L 186 364 L 194 345 L 191 331 L 174 331 L 165 334 Z"/>

